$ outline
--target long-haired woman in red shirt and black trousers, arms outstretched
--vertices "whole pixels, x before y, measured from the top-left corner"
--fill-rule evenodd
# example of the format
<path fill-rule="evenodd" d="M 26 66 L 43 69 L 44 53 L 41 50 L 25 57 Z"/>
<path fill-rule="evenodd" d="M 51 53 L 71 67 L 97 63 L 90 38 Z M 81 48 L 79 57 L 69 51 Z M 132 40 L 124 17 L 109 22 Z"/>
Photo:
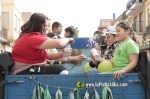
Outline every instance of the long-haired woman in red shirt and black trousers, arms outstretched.
<path fill-rule="evenodd" d="M 73 38 L 50 39 L 45 36 L 47 17 L 41 13 L 34 13 L 21 27 L 21 33 L 16 40 L 12 59 L 15 65 L 11 74 L 68 74 L 62 65 L 49 65 L 46 60 L 57 59 L 63 52 L 46 52 L 45 49 L 62 48 L 73 43 Z"/>

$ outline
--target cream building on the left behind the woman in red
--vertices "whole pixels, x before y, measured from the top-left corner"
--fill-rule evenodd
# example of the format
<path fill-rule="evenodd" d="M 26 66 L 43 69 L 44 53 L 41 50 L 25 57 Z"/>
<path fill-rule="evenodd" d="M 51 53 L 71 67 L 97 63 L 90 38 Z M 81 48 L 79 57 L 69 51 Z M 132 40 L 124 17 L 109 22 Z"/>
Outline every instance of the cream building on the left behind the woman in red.
<path fill-rule="evenodd" d="M 21 8 L 19 0 L 2 0 L 1 4 L 2 31 L 7 34 L 7 42 L 3 45 L 4 51 L 10 51 L 20 34 Z"/>

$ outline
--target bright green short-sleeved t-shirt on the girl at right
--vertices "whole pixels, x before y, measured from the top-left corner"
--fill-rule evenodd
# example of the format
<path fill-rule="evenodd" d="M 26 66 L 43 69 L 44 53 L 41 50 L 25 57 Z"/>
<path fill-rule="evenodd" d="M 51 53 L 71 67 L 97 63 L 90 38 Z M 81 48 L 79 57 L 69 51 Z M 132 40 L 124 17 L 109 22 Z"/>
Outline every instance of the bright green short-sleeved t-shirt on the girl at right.
<path fill-rule="evenodd" d="M 134 53 L 139 54 L 139 46 L 131 38 L 128 38 L 124 42 L 122 42 L 115 50 L 113 57 L 113 70 L 121 70 L 126 67 L 130 62 L 128 55 Z"/>

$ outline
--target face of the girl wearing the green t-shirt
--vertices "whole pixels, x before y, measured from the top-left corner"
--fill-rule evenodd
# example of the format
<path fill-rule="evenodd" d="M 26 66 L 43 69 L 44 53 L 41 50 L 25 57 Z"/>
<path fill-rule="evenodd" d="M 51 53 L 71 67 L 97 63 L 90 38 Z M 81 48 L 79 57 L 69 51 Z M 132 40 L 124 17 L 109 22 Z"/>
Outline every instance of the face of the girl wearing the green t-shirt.
<path fill-rule="evenodd" d="M 122 27 L 117 26 L 116 27 L 116 33 L 117 33 L 118 40 L 124 41 L 128 37 L 129 30 L 125 30 Z"/>

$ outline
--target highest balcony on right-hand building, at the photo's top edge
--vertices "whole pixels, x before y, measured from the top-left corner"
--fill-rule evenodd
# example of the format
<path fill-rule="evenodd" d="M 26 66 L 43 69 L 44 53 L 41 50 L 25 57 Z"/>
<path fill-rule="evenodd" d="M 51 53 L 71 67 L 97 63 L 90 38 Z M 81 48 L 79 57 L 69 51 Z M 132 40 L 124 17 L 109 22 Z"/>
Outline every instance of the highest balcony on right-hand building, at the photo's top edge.
<path fill-rule="evenodd" d="M 126 15 L 134 15 L 137 11 L 143 8 L 144 0 L 129 0 L 126 4 Z"/>

